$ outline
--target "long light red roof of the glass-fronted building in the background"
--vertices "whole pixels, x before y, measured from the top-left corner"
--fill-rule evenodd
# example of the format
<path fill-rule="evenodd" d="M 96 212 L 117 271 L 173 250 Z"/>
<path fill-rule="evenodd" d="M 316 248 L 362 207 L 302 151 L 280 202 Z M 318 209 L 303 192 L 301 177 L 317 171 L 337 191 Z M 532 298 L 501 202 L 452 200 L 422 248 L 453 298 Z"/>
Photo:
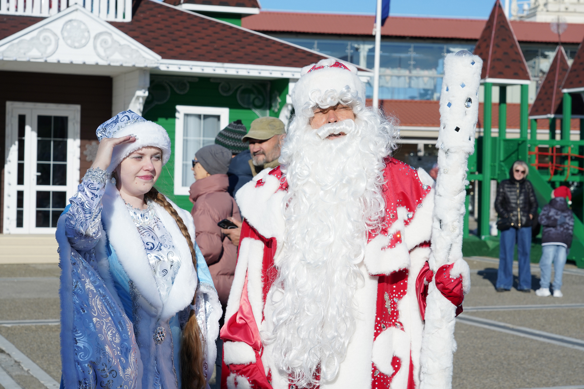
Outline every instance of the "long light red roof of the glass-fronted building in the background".
<path fill-rule="evenodd" d="M 332 13 L 272 12 L 246 16 L 241 25 L 246 29 L 266 32 L 291 32 L 307 34 L 365 35 L 371 37 L 374 16 Z M 441 17 L 390 16 L 381 28 L 383 36 L 453 38 L 476 40 L 481 36 L 486 20 L 447 19 Z M 520 42 L 556 43 L 549 23 L 511 22 Z M 584 24 L 568 24 L 562 34 L 564 43 L 580 43 L 584 36 Z"/>

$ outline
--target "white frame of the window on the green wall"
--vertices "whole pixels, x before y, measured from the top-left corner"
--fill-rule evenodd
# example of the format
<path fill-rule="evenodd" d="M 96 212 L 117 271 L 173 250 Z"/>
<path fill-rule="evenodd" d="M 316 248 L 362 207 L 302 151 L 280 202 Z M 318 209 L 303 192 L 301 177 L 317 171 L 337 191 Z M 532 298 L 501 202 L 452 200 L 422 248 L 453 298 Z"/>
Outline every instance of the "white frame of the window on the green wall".
<path fill-rule="evenodd" d="M 229 108 L 225 107 L 197 107 L 176 106 L 175 121 L 175 195 L 189 195 L 189 187 L 182 186 L 183 167 L 183 133 L 185 130 L 185 114 L 194 115 L 219 115 L 219 127 L 221 129 L 229 124 Z"/>

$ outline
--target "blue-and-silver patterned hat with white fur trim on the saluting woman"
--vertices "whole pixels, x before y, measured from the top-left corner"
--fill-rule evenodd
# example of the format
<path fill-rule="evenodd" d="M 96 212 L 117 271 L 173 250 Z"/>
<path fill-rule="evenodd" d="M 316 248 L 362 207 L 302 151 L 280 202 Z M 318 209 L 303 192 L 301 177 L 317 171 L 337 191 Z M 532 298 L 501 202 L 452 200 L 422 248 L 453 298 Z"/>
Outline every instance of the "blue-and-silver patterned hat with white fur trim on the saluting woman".
<path fill-rule="evenodd" d="M 100 125 L 95 132 L 101 142 L 103 138 L 121 138 L 134 135 L 136 141 L 124 143 L 114 147 L 112 163 L 107 168 L 107 173 L 112 173 L 120 162 L 135 150 L 147 146 L 154 146 L 162 150 L 162 165 L 171 157 L 171 138 L 166 130 L 159 124 L 141 117 L 134 111 L 122 111 L 110 120 Z"/>

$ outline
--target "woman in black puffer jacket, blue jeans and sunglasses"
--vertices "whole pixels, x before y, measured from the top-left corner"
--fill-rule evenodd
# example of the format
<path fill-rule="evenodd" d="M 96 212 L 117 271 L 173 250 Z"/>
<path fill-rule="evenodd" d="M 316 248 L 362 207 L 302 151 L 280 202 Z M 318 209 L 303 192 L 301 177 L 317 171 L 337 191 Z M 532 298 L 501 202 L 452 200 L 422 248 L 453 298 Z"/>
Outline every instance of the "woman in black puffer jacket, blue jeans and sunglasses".
<path fill-rule="evenodd" d="M 517 290 L 531 291 L 531 220 L 537 212 L 533 185 L 527 181 L 529 167 L 524 161 L 515 161 L 509 171 L 509 180 L 497 188 L 495 210 L 499 214 L 499 271 L 496 289 L 510 290 L 513 286 L 513 251 L 517 243 L 519 254 L 519 285 Z"/>

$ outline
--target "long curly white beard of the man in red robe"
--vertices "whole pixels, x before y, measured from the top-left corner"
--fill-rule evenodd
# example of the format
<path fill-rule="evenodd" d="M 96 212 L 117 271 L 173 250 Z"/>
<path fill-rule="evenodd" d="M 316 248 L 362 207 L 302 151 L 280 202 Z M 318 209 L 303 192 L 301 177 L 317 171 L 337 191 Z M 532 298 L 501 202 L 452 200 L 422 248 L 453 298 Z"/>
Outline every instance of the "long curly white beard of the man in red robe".
<path fill-rule="evenodd" d="M 298 387 L 335 378 L 353 335 L 353 295 L 363 275 L 367 231 L 379 229 L 383 159 L 393 128 L 377 113 L 312 129 L 291 124 L 280 162 L 288 193 L 279 274 L 268 298 L 274 304 L 273 358 Z M 345 136 L 325 139 L 328 134 Z M 322 138 L 322 139 L 321 139 Z M 281 296 L 281 297 L 276 297 Z"/>

